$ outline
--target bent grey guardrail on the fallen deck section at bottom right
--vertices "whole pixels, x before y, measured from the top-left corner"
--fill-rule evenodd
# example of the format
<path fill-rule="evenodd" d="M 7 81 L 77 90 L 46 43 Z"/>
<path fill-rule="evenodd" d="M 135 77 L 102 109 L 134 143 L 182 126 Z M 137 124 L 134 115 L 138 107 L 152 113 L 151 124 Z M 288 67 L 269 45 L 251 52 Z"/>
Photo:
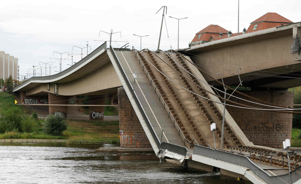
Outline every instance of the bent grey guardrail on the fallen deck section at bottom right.
<path fill-rule="evenodd" d="M 217 159 L 220 161 L 228 162 L 230 164 L 235 164 L 250 169 L 256 176 L 265 181 L 268 184 L 289 184 L 289 173 L 279 176 L 271 176 L 265 170 L 254 164 L 250 158 L 239 155 L 235 153 L 229 153 L 221 150 L 216 150 L 216 155 L 214 154 L 214 149 L 207 148 L 199 145 L 195 145 L 193 154 L 198 154 L 201 156 L 206 156 L 209 158 Z M 292 184 L 301 179 L 301 167 L 296 168 L 290 172 Z"/>

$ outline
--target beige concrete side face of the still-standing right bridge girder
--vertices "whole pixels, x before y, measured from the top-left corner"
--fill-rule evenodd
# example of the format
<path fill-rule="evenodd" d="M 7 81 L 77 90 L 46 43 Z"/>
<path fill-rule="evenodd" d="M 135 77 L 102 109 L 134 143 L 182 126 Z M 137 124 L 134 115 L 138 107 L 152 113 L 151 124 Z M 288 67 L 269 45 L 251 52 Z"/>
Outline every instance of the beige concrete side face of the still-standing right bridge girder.
<path fill-rule="evenodd" d="M 194 63 L 208 69 L 204 69 L 208 74 L 221 72 L 223 78 L 233 77 L 233 73 L 237 76 L 237 68 L 241 68 L 241 73 L 247 73 L 265 68 L 286 66 L 292 57 L 292 43 L 292 35 L 254 40 L 254 42 L 246 44 L 237 42 L 236 46 L 202 51 L 191 59 Z M 207 82 L 212 81 L 211 78 L 205 75 L 204 77 Z M 215 74 L 213 77 L 220 79 L 220 75 L 216 76 Z"/>

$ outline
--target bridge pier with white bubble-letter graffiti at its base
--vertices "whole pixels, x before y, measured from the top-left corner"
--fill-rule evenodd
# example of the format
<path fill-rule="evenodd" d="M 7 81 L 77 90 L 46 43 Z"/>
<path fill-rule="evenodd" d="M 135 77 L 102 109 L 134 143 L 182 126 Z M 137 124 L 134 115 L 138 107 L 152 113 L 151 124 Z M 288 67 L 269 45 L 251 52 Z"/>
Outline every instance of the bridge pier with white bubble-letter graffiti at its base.
<path fill-rule="evenodd" d="M 89 96 L 89 105 L 104 105 L 105 95 Z M 104 106 L 89 106 L 90 120 L 103 120 Z"/>

